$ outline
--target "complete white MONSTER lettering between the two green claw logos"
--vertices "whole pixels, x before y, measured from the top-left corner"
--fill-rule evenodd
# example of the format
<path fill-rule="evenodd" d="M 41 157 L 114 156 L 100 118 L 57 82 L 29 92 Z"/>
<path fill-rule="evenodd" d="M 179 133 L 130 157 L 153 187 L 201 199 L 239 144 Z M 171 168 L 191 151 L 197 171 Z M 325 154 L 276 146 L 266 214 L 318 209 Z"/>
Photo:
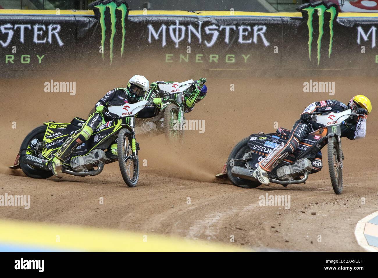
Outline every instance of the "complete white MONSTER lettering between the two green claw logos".
<path fill-rule="evenodd" d="M 207 47 L 212 47 L 218 40 L 220 32 L 224 32 L 225 34 L 225 43 L 229 44 L 230 42 L 230 33 L 231 30 L 235 32 L 235 35 L 238 36 L 237 41 L 239 43 L 252 43 L 254 42 L 257 44 L 259 42 L 259 37 L 262 40 L 265 47 L 268 47 L 270 43 L 265 38 L 265 32 L 267 27 L 265 25 L 255 25 L 251 27 L 250 25 L 209 25 L 202 28 L 202 22 L 198 21 L 198 30 L 192 25 L 180 25 L 179 20 L 175 20 L 174 24 L 171 24 L 167 27 L 165 24 L 161 24 L 160 28 L 156 31 L 152 24 L 147 25 L 148 31 L 148 42 L 152 43 L 152 37 L 155 40 L 161 39 L 161 46 L 165 47 L 167 45 L 167 28 L 169 30 L 169 37 L 172 42 L 175 43 L 175 47 L 178 48 L 179 42 L 186 39 L 187 34 L 187 41 L 192 43 L 192 38 L 194 35 L 197 37 L 198 42 L 201 44 L 203 41 Z M 187 30 L 187 32 L 186 32 Z M 208 35 L 206 40 L 202 38 L 202 31 Z M 223 31 L 224 30 L 224 31 Z M 253 33 L 252 36 L 250 33 Z"/>

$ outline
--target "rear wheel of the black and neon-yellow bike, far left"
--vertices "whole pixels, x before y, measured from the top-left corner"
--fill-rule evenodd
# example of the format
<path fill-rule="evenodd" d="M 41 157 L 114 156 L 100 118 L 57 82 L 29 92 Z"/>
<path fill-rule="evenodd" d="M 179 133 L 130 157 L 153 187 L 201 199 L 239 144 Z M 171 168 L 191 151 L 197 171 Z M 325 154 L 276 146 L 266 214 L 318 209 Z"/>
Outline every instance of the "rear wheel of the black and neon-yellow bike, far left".
<path fill-rule="evenodd" d="M 39 157 L 39 154 L 37 154 L 37 151 L 34 149 L 34 147 L 36 146 L 36 144 L 43 141 L 43 137 L 45 136 L 45 132 L 46 132 L 46 127 L 47 126 L 43 125 L 43 126 L 39 126 L 33 129 L 28 135 L 26 135 L 25 139 L 22 141 L 21 148 L 20 148 L 20 149 L 30 149 L 30 151 L 21 152 L 20 167 L 22 171 L 25 173 L 25 175 L 34 179 L 47 179 L 53 175 L 53 173 L 50 171 L 41 170 L 23 162 L 23 158 L 25 157 L 25 154 L 30 154 L 30 155 L 34 155 L 35 157 Z M 40 158 L 43 158 L 43 157 L 40 157 Z"/>

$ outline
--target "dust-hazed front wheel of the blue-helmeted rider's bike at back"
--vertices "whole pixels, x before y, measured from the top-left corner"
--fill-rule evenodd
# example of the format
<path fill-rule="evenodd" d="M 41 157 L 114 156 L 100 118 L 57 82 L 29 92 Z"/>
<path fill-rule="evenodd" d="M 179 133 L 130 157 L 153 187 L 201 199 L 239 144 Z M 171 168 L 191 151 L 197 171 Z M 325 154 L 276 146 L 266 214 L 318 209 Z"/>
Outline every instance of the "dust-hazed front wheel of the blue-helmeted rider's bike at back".
<path fill-rule="evenodd" d="M 178 107 L 171 103 L 164 109 L 164 134 L 167 143 L 182 145 L 184 142 L 184 130 L 179 129 Z"/>

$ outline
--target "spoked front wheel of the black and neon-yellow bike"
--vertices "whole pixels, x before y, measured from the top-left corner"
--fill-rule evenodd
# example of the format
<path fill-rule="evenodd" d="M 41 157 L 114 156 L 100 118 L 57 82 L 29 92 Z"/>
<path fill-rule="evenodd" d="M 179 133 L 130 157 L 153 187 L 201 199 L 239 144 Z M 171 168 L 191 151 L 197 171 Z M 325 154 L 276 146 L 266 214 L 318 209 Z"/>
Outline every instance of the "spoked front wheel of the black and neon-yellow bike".
<path fill-rule="evenodd" d="M 132 151 L 132 134 L 128 129 L 121 129 L 117 139 L 118 163 L 123 180 L 129 187 L 135 187 L 139 178 L 139 160 Z"/>

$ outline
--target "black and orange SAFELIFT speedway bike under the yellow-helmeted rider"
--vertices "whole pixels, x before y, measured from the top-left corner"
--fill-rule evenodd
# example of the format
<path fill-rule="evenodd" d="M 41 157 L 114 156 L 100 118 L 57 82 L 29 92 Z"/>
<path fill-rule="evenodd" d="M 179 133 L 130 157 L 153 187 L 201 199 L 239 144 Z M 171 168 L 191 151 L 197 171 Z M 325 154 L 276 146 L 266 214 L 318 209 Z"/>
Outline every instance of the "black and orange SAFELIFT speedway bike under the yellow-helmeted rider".
<path fill-rule="evenodd" d="M 312 160 L 327 145 L 328 169 L 332 188 L 336 194 L 342 193 L 344 155 L 341 147 L 340 125 L 349 117 L 355 118 L 363 115 L 357 114 L 351 109 L 339 113 L 331 112 L 327 115 L 319 114 L 310 113 L 310 120 L 318 123 L 321 127 L 309 133 L 299 143 L 293 154 L 285 157 L 268 173 L 271 183 L 277 183 L 284 187 L 289 184 L 305 183 L 313 169 Z M 290 130 L 280 127 L 275 133 L 259 132 L 244 138 L 232 149 L 222 172 L 216 177 L 228 178 L 239 187 L 256 188 L 261 183 L 252 176 L 252 173 L 259 166 L 258 163 L 279 144 L 285 143 L 289 134 Z M 318 166 L 321 168 L 322 165 Z"/>

